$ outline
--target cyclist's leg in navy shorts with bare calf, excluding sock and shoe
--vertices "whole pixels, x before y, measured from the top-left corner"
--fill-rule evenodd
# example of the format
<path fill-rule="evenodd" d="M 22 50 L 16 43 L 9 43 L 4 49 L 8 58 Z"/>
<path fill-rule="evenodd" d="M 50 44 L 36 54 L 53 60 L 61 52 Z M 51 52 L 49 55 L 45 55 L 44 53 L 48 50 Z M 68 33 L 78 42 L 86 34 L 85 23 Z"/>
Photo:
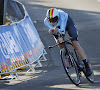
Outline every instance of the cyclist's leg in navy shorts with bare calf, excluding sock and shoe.
<path fill-rule="evenodd" d="M 66 26 L 66 30 L 68 31 L 68 34 L 71 37 L 72 45 L 77 51 L 79 57 L 81 58 L 81 60 L 85 60 L 86 54 L 78 42 L 78 31 L 70 16 L 68 16 L 68 25 Z"/>

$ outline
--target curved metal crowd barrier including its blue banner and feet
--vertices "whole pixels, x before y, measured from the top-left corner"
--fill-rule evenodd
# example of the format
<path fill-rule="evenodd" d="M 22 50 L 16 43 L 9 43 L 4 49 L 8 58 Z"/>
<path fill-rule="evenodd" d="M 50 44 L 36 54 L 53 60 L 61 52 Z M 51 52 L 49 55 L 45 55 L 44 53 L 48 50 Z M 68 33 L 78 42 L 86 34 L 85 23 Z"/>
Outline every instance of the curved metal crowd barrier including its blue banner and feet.
<path fill-rule="evenodd" d="M 30 66 L 35 71 L 47 53 L 23 4 L 8 0 L 7 19 L 11 24 L 0 26 L 0 75 L 15 73 L 19 79 L 17 69 Z"/>

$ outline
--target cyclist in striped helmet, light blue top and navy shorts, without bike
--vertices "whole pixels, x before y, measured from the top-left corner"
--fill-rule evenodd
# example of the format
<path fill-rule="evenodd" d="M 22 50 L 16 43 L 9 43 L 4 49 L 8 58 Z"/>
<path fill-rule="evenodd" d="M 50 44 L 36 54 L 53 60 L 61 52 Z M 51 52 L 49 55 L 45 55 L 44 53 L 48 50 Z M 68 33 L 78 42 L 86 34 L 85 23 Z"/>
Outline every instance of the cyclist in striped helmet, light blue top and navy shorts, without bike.
<path fill-rule="evenodd" d="M 49 28 L 49 34 L 51 35 L 53 33 L 57 34 L 58 32 L 61 34 L 65 34 L 65 32 L 68 32 L 69 36 L 71 37 L 73 47 L 85 64 L 87 76 L 90 76 L 92 74 L 92 70 L 87 61 L 86 54 L 78 42 L 78 31 L 71 17 L 62 10 L 50 8 L 47 10 L 44 23 Z M 59 37 L 58 39 L 55 39 L 56 43 L 58 43 L 58 41 L 62 41 L 61 37 Z M 63 44 L 59 44 L 58 46 L 60 49 L 64 49 Z"/>

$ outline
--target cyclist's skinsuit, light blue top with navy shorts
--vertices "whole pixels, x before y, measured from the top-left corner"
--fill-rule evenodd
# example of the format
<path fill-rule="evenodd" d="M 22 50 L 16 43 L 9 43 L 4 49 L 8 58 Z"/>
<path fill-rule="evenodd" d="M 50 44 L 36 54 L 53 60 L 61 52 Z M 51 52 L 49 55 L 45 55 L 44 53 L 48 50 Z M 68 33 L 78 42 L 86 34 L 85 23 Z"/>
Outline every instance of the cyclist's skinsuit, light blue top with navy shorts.
<path fill-rule="evenodd" d="M 58 12 L 59 12 L 59 18 L 58 18 L 58 23 L 55 27 L 59 28 L 58 30 L 62 34 L 65 34 L 65 31 L 68 31 L 68 34 L 71 37 L 71 41 L 74 40 L 78 41 L 78 31 L 75 27 L 73 20 L 64 11 L 58 10 Z M 55 28 L 50 24 L 47 17 L 44 19 L 44 23 L 49 29 Z"/>

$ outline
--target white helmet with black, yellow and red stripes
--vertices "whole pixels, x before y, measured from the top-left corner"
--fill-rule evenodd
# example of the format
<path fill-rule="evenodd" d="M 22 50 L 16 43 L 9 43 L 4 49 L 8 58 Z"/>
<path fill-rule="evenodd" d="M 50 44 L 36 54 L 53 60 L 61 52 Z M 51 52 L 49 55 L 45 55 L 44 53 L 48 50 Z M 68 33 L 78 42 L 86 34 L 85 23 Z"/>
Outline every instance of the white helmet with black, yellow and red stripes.
<path fill-rule="evenodd" d="M 51 9 L 47 10 L 46 16 L 48 19 L 59 17 L 59 12 L 56 8 L 51 8 Z"/>

